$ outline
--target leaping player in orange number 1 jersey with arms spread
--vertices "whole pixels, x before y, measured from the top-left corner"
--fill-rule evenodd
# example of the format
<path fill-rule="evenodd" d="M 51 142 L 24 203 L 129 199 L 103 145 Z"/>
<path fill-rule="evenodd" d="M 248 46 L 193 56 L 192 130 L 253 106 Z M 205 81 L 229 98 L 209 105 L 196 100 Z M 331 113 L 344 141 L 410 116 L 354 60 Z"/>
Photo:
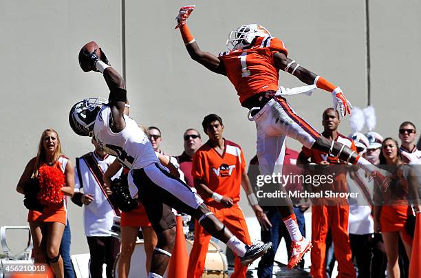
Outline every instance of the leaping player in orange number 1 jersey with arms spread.
<path fill-rule="evenodd" d="M 204 65 L 210 71 L 227 76 L 233 83 L 241 106 L 250 109 L 249 120 L 257 126 L 257 156 L 259 169 L 263 175 L 281 173 L 285 153 L 285 138 L 289 136 L 299 140 L 309 149 L 317 149 L 338 156 L 341 160 L 358 164 L 373 175 L 377 182 L 385 182 L 385 177 L 373 164 L 358 156 L 358 153 L 341 142 L 328 140 L 321 136 L 312 126 L 298 116 L 283 96 L 308 93 L 316 88 L 330 92 L 333 97 L 334 109 L 339 107 L 341 115 L 350 113 L 351 103 L 345 98 L 341 88 L 333 85 L 325 78 L 301 67 L 296 61 L 288 58 L 283 42 L 270 35 L 261 25 L 241 25 L 230 32 L 228 51 L 214 56 L 200 50 L 199 45 L 188 30 L 186 19 L 195 6 L 180 8 L 177 16 L 177 26 L 180 28 L 186 50 L 193 60 Z M 296 89 L 279 89 L 279 69 L 299 78 L 307 87 Z M 288 202 L 288 200 L 285 200 Z M 292 202 L 288 202 L 292 204 Z M 310 242 L 302 237 L 292 205 L 278 206 L 283 215 L 292 239 L 292 256 L 288 264 L 294 267 L 310 250 Z"/>

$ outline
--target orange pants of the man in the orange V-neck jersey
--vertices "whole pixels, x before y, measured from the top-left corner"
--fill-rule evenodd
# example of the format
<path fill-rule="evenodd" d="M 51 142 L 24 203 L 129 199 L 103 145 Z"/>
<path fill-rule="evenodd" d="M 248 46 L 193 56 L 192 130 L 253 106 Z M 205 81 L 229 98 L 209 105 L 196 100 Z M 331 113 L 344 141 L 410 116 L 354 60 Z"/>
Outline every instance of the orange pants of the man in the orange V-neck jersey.
<path fill-rule="evenodd" d="M 208 208 L 233 235 L 245 244 L 251 244 L 246 220 L 238 204 L 234 204 L 230 208 L 222 208 L 222 206 L 220 208 L 208 206 Z M 195 240 L 188 259 L 187 277 L 202 277 L 210 238 L 210 234 L 195 220 Z M 234 272 L 231 278 L 246 277 L 246 272 L 247 266 L 242 266 L 240 258 L 235 255 Z"/>

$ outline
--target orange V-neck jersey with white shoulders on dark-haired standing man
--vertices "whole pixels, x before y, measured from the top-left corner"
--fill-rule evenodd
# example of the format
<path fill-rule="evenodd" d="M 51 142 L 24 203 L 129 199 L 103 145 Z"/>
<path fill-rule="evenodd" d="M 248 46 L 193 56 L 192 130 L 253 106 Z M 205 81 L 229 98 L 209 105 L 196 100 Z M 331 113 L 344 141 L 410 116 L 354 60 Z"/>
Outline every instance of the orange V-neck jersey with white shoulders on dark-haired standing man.
<path fill-rule="evenodd" d="M 225 140 L 222 156 L 206 142 L 193 157 L 191 174 L 193 179 L 202 180 L 208 188 L 220 195 L 238 202 L 240 197 L 241 173 L 246 169 L 246 161 L 241 147 Z M 204 197 L 206 203 L 213 199 Z"/>

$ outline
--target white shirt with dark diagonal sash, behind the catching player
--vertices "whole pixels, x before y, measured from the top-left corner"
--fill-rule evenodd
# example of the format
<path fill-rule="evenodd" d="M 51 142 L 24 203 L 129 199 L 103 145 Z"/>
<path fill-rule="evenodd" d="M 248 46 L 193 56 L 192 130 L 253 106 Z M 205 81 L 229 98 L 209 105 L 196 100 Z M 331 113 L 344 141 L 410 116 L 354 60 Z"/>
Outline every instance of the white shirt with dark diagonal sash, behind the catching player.
<path fill-rule="evenodd" d="M 87 164 L 87 158 L 93 158 L 95 165 Z M 118 208 L 111 204 L 108 195 L 100 184 L 98 177 L 96 177 L 95 170 L 103 174 L 107 171 L 109 165 L 114 162 L 115 156 L 105 156 L 103 160 L 96 155 L 96 153 L 87 153 L 85 156 L 79 158 L 78 167 L 75 167 L 74 175 L 74 193 L 83 191 L 84 194 L 91 194 L 94 200 L 89 205 L 83 205 L 83 219 L 85 222 L 85 235 L 87 237 L 108 237 L 111 236 L 110 230 L 113 226 L 114 216 L 119 215 Z M 93 169 L 97 167 L 97 169 Z M 118 178 L 122 169 L 114 175 Z M 79 175 L 80 179 L 79 180 Z"/>

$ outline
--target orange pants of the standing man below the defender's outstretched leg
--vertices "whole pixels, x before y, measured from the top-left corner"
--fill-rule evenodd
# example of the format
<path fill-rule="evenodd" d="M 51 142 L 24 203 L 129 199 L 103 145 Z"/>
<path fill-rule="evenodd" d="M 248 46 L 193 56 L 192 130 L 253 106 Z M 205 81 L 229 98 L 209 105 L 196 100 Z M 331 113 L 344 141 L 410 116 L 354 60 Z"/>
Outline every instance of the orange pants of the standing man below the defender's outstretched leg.
<path fill-rule="evenodd" d="M 310 274 L 313 278 L 327 278 L 326 275 L 326 236 L 332 233 L 334 253 L 338 261 L 338 277 L 356 277 L 352 264 L 352 253 L 348 236 L 349 206 L 312 206 L 312 266 Z"/>

